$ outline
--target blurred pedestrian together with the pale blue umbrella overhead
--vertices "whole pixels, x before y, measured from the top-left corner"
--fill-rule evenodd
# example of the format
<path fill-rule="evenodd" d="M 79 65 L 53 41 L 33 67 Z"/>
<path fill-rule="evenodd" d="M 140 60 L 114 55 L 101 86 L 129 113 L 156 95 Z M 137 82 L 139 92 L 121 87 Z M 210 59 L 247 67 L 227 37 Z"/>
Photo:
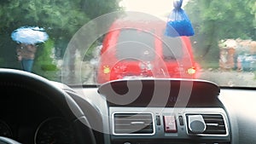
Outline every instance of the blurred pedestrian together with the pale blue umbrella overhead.
<path fill-rule="evenodd" d="M 18 43 L 16 52 L 22 69 L 32 72 L 33 60 L 37 52 L 36 43 L 44 43 L 48 39 L 47 33 L 38 26 L 22 26 L 12 32 L 11 37 Z"/>

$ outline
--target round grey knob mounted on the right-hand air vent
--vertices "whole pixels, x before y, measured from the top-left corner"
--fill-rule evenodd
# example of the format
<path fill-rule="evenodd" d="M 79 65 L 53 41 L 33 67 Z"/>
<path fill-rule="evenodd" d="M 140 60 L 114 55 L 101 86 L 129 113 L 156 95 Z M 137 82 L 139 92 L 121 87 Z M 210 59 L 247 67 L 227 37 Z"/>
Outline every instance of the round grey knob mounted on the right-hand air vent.
<path fill-rule="evenodd" d="M 189 130 L 195 134 L 203 133 L 207 129 L 204 118 L 201 115 L 189 116 Z"/>

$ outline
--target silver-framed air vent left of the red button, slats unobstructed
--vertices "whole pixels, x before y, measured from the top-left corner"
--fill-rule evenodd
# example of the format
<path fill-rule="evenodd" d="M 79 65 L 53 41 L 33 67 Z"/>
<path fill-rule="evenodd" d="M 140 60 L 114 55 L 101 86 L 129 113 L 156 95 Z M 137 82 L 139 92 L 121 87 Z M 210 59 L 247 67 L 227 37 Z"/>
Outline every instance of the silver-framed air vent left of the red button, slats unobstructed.
<path fill-rule="evenodd" d="M 152 113 L 114 113 L 114 135 L 154 135 Z"/>

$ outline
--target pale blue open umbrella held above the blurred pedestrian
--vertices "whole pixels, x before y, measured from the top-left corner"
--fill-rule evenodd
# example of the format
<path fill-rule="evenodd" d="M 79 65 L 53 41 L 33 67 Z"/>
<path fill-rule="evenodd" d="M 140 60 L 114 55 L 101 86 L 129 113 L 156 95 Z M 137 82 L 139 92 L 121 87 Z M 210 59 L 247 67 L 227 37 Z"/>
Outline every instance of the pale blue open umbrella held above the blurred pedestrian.
<path fill-rule="evenodd" d="M 11 37 L 17 43 L 35 44 L 44 43 L 49 36 L 44 32 L 44 28 L 38 26 L 21 26 L 12 32 Z"/>

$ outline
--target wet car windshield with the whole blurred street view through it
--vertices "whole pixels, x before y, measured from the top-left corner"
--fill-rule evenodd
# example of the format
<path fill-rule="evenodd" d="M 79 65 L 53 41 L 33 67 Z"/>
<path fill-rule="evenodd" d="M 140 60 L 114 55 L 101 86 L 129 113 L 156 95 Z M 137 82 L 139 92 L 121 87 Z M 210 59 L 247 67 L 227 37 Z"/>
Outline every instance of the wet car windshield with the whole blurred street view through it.
<path fill-rule="evenodd" d="M 0 3 L 4 68 L 67 85 L 196 78 L 256 87 L 255 0 Z"/>

